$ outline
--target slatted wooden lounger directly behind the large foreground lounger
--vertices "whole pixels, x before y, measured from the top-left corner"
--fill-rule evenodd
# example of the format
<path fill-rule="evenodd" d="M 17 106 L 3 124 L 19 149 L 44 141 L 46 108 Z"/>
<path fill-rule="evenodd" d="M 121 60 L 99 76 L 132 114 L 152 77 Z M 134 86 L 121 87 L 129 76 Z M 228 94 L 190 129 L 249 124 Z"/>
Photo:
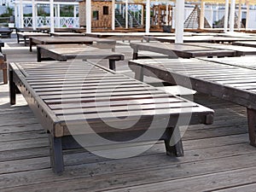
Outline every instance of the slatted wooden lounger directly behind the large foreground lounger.
<path fill-rule="evenodd" d="M 38 62 L 54 59 L 67 61 L 71 59 L 108 59 L 109 68 L 115 70 L 115 61 L 125 59 L 124 54 L 107 49 L 97 49 L 85 44 L 39 44 L 37 45 Z"/>

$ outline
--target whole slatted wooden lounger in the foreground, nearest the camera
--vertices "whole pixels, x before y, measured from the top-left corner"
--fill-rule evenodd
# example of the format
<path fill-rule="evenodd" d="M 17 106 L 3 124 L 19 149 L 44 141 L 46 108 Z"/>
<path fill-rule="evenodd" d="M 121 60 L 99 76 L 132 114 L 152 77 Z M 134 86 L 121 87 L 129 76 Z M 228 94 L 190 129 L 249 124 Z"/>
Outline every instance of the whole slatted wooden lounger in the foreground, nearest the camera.
<path fill-rule="evenodd" d="M 212 124 L 212 109 L 85 61 L 9 63 L 9 89 L 10 103 L 20 90 L 49 133 L 55 173 L 64 170 L 62 149 L 81 147 L 77 136 L 86 148 L 162 139 L 166 154 L 183 156 L 178 127 Z"/>

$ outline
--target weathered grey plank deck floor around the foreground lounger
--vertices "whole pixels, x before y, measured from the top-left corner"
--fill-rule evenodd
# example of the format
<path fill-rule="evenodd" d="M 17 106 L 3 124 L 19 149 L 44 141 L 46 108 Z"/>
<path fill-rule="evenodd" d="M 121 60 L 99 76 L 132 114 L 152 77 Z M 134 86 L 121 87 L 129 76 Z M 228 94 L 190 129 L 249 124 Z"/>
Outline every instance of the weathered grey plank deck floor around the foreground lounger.
<path fill-rule="evenodd" d="M 8 95 L 8 85 L 0 83 L 1 192 L 255 191 L 256 148 L 248 144 L 246 110 L 230 102 L 195 95 L 195 102 L 215 110 L 215 121 L 189 126 L 183 157 L 166 156 L 163 143 L 123 160 L 67 151 L 66 170 L 56 176 L 42 127 L 22 96 L 10 107 Z"/>

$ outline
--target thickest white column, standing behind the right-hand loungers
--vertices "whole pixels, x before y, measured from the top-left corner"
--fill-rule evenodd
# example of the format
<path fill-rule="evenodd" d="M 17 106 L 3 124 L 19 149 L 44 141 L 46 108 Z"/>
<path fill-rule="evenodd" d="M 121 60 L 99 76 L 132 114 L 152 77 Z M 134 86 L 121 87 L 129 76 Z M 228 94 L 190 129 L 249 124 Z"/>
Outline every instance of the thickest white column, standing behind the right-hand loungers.
<path fill-rule="evenodd" d="M 183 44 L 183 30 L 184 30 L 184 0 L 176 0 L 175 5 L 175 44 Z"/>

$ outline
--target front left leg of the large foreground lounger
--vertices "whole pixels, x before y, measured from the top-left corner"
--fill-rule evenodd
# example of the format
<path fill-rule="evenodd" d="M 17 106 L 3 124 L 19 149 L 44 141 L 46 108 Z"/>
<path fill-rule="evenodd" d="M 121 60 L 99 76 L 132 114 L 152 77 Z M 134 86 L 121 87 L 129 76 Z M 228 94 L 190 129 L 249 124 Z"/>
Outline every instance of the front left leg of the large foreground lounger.
<path fill-rule="evenodd" d="M 64 171 L 61 137 L 49 134 L 49 156 L 52 171 L 61 174 Z"/>

